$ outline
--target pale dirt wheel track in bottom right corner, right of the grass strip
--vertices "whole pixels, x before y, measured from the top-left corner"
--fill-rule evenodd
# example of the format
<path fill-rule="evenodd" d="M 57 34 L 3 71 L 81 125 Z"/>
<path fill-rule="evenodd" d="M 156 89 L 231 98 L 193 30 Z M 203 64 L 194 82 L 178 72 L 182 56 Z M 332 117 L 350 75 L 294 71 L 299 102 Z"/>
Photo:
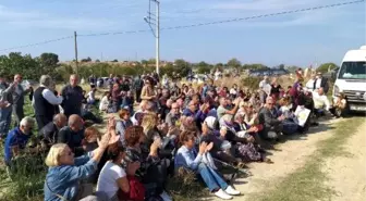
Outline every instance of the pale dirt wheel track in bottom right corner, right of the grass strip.
<path fill-rule="evenodd" d="M 351 155 L 327 160 L 324 171 L 327 185 L 335 190 L 332 201 L 364 201 L 366 199 L 366 123 L 345 143 Z"/>

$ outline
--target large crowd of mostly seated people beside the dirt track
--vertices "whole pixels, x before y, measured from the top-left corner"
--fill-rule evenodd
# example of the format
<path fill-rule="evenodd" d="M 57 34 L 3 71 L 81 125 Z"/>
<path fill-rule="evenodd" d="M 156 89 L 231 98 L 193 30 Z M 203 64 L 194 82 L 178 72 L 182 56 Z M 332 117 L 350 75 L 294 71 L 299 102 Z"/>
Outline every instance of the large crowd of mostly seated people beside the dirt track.
<path fill-rule="evenodd" d="M 181 169 L 194 173 L 212 194 L 229 200 L 241 192 L 224 178 L 222 164 L 242 169 L 251 162 L 273 163 L 267 149 L 285 136 L 304 134 L 327 111 L 338 114 L 346 104 L 339 97 L 332 106 L 321 85 L 303 88 L 301 76 L 289 91 L 277 79 L 270 84 L 269 77 L 260 81 L 258 91 L 236 85 L 229 90 L 216 87 L 213 80 L 195 88 L 169 80 L 160 86 L 149 75 L 131 84 L 115 77 L 99 109 L 119 117 L 111 115 L 101 134 L 85 124 L 77 76 L 70 81 L 59 96 L 49 92 L 54 91 L 52 80 L 42 76 L 33 98 L 41 149 L 28 150 L 48 152 L 47 201 L 169 201 L 168 180 Z M 95 92 L 93 88 L 87 104 L 95 103 Z M 58 106 L 65 108 L 64 113 Z M 309 111 L 305 124 L 298 123 L 297 109 Z M 9 133 L 8 166 L 26 149 L 34 122 L 24 117 Z"/>

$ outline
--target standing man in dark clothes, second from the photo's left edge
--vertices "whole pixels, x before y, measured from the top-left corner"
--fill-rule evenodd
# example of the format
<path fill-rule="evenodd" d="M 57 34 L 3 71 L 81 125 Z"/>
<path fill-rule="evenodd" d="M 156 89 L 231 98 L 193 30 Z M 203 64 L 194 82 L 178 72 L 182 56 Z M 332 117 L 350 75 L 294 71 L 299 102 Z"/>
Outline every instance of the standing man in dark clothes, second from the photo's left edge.
<path fill-rule="evenodd" d="M 13 91 L 13 113 L 15 117 L 15 127 L 19 126 L 22 118 L 24 117 L 24 96 L 30 90 L 30 86 L 24 90 L 22 83 L 22 76 L 16 74 L 14 76 L 14 83 L 16 84 Z"/>

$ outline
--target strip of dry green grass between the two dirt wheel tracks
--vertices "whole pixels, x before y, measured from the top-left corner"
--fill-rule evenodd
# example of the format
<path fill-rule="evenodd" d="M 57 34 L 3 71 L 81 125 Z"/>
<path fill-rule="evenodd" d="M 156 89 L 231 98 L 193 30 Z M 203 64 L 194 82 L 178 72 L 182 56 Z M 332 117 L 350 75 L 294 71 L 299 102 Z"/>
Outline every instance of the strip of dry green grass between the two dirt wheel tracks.
<path fill-rule="evenodd" d="M 337 124 L 333 136 L 319 141 L 317 151 L 309 156 L 304 167 L 288 175 L 278 185 L 263 194 L 249 200 L 258 201 L 315 201 L 330 200 L 334 191 L 327 187 L 326 173 L 321 171 L 324 162 L 329 158 L 347 154 L 344 149 L 346 140 L 356 133 L 364 118 L 354 117 Z M 277 181 L 278 183 L 278 181 Z"/>

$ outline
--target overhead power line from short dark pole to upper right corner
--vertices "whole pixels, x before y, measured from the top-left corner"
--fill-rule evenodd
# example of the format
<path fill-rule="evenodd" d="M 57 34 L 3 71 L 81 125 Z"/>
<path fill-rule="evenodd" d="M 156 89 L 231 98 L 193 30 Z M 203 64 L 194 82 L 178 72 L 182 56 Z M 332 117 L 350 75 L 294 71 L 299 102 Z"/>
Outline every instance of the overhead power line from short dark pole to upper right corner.
<path fill-rule="evenodd" d="M 230 20 L 223 20 L 223 21 L 213 21 L 213 22 L 208 22 L 208 23 L 198 23 L 198 24 L 191 24 L 191 25 L 179 25 L 179 26 L 171 26 L 171 27 L 162 27 L 160 29 L 161 30 L 183 29 L 183 28 L 208 26 L 208 25 L 215 25 L 215 24 L 224 24 L 224 23 L 232 23 L 232 22 L 240 22 L 240 21 L 248 21 L 248 20 L 254 20 L 254 18 L 265 18 L 265 17 L 271 17 L 271 16 L 292 14 L 292 13 L 301 13 L 301 12 L 306 12 L 306 11 L 315 11 L 315 10 L 322 10 L 322 9 L 330 9 L 330 8 L 335 8 L 335 7 L 356 4 L 356 3 L 362 3 L 362 2 L 365 2 L 365 1 L 366 0 L 347 1 L 347 2 L 342 2 L 342 3 L 318 5 L 318 7 L 312 7 L 312 8 L 305 8 L 305 9 L 282 11 L 282 12 L 277 12 L 277 13 L 253 15 L 253 16 L 247 16 L 247 17 L 237 17 L 237 18 L 230 18 Z M 118 32 L 118 33 L 89 34 L 89 35 L 80 35 L 80 36 L 106 36 L 106 35 L 120 35 L 120 34 L 137 34 L 137 33 L 146 33 L 146 32 L 149 32 L 149 29 Z"/>

